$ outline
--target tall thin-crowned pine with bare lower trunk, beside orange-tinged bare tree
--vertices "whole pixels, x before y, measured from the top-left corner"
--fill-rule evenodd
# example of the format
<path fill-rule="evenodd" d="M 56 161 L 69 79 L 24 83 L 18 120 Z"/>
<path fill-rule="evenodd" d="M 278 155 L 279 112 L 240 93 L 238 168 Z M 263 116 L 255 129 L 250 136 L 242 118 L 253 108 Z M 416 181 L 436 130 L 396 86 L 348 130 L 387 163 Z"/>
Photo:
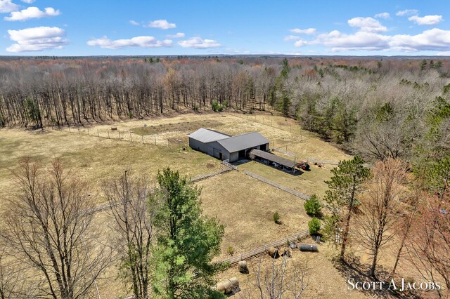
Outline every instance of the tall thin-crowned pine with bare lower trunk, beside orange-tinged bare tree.
<path fill-rule="evenodd" d="M 345 246 L 349 234 L 350 218 L 354 211 L 356 197 L 362 183 L 370 176 L 370 170 L 364 167 L 364 160 L 356 156 L 352 160 L 340 161 L 338 167 L 331 170 L 333 177 L 326 181 L 329 190 L 326 191 L 325 201 L 330 211 L 326 220 L 326 232 L 329 235 L 342 230 L 342 245 L 340 259 L 344 259 Z"/>

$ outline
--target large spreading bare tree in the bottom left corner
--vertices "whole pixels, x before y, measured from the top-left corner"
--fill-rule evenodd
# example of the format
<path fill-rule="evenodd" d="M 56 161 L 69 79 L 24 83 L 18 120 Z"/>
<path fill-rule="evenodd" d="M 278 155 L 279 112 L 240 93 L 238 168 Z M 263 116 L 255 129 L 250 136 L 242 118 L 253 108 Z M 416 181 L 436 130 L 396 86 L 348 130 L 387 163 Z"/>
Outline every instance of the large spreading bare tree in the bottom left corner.
<path fill-rule="evenodd" d="M 91 232 L 92 202 L 85 185 L 59 160 L 49 171 L 23 159 L 13 173 L 18 194 L 5 215 L 8 254 L 34 271 L 34 294 L 51 298 L 91 296 L 110 262 L 110 251 Z M 40 274 L 39 274 L 40 273 Z M 39 274 L 39 275 L 37 275 Z M 25 277 L 23 277 L 25 279 Z"/>

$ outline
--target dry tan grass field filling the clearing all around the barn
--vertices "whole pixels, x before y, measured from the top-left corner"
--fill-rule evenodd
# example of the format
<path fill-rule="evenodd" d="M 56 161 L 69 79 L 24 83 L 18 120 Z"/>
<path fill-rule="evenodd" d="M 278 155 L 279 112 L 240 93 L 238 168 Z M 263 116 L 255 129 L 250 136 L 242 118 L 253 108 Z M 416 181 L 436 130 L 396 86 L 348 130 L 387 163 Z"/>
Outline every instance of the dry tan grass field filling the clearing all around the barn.
<path fill-rule="evenodd" d="M 146 126 L 143 126 L 146 124 Z M 303 131 L 291 119 L 270 114 L 189 114 L 167 119 L 146 119 L 85 128 L 64 128 L 61 131 L 0 130 L 0 201 L 13 194 L 14 171 L 22 157 L 33 157 L 46 164 L 54 157 L 63 159 L 77 176 L 89 184 L 91 195 L 98 204 L 105 201 L 101 184 L 132 169 L 136 175 L 148 175 L 155 183 L 158 170 L 170 166 L 184 175 L 212 173 L 221 168 L 220 161 L 186 148 L 187 134 L 200 126 L 230 135 L 258 131 L 271 141 L 271 147 L 284 147 L 294 152 L 297 161 L 306 157 L 339 161 L 349 156 L 314 134 Z M 111 127 L 117 131 L 111 131 Z M 89 131 L 88 131 L 89 129 Z M 120 139 L 119 139 L 120 132 Z M 109 138 L 108 138 L 109 137 Z M 131 141 L 130 141 L 131 140 Z M 155 145 L 156 143 L 156 145 Z M 186 150 L 184 150 L 186 149 Z M 278 154 L 278 153 L 277 153 Z M 292 159 L 292 158 L 291 158 Z M 323 180 L 330 178 L 331 166 L 318 168 L 301 175 L 283 173 L 255 161 L 238 166 L 274 180 L 299 192 L 322 195 Z M 203 187 L 201 199 L 205 215 L 217 217 L 226 225 L 220 258 L 227 258 L 227 248 L 235 254 L 250 251 L 271 241 L 307 229 L 309 216 L 304 213 L 303 201 L 242 172 L 230 171 L 196 183 Z M 278 212 L 281 224 L 273 214 Z M 108 236 L 110 216 L 96 215 L 95 224 Z M 333 268 L 330 254 L 318 253 L 311 267 L 311 297 L 333 295 L 333 286 L 346 287 L 345 279 Z M 221 277 L 236 272 L 227 270 Z M 113 263 L 99 283 L 102 297 L 113 298 L 129 293 L 118 284 L 117 263 Z M 233 274 L 236 276 L 236 274 Z M 328 279 L 326 284 L 321 281 Z M 250 281 L 243 281 L 243 291 L 252 291 Z M 341 297 L 347 297 L 342 293 Z M 359 294 L 361 297 L 361 294 Z M 350 297 L 352 298 L 352 297 Z M 356 298 L 356 297 L 354 297 Z"/>

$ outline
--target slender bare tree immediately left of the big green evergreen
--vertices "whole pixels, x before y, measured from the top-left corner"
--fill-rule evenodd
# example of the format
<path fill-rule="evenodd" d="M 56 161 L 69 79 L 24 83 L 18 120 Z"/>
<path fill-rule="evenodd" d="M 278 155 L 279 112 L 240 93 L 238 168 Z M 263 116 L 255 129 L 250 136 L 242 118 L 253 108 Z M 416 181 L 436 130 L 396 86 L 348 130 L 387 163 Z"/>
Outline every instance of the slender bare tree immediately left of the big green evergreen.
<path fill-rule="evenodd" d="M 153 222 L 158 211 L 149 205 L 150 188 L 146 178 L 130 178 L 125 171 L 117 180 L 103 186 L 115 219 L 115 232 L 121 257 L 122 275 L 131 281 L 134 298 L 148 298 Z"/>

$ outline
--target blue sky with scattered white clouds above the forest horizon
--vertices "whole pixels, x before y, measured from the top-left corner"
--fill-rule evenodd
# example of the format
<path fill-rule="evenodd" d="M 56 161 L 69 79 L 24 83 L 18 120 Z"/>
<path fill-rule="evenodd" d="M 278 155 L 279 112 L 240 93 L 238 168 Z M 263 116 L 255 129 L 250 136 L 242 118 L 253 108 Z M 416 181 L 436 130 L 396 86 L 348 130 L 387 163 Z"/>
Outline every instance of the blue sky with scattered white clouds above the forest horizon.
<path fill-rule="evenodd" d="M 0 0 L 0 55 L 450 55 L 450 2 Z"/>

